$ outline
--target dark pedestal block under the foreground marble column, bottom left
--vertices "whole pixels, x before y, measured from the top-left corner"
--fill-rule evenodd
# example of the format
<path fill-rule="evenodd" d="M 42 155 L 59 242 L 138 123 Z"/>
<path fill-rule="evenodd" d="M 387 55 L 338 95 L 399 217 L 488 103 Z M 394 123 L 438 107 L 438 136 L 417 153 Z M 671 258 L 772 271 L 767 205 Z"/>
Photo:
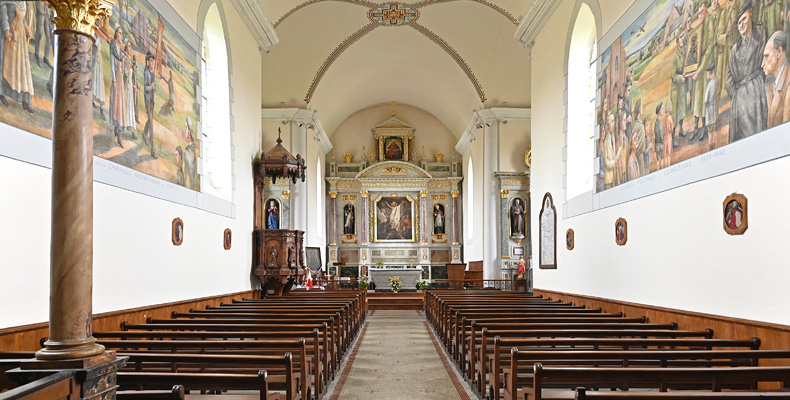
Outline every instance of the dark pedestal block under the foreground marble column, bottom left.
<path fill-rule="evenodd" d="M 30 360 L 7 372 L 9 379 L 24 385 L 61 371 L 75 372 L 80 400 L 115 400 L 118 389 L 116 372 L 126 365 L 128 357 L 117 357 L 114 351 L 98 356 L 72 360 Z M 76 393 L 77 391 L 75 391 Z"/>

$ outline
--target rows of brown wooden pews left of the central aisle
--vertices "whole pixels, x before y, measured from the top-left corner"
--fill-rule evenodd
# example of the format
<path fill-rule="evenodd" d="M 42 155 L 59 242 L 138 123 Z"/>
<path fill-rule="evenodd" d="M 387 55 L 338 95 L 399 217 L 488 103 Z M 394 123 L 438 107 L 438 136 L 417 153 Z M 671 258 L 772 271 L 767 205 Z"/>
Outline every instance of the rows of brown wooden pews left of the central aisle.
<path fill-rule="evenodd" d="M 364 291 L 293 291 L 173 312 L 144 324 L 124 322 L 118 331 L 93 335 L 128 358 L 117 374 L 122 400 L 250 390 L 258 393 L 250 399 L 317 400 L 366 314 Z"/>

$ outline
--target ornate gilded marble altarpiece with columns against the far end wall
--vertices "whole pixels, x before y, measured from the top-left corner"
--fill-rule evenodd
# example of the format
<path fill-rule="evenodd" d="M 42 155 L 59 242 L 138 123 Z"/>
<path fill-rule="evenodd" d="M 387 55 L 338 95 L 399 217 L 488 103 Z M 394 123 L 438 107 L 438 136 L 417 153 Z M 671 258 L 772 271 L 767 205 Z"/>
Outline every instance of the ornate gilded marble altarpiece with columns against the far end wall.
<path fill-rule="evenodd" d="M 446 264 L 462 259 L 460 163 L 418 154 L 415 128 L 394 113 L 371 130 L 364 159 L 346 154 L 346 162 L 329 163 L 329 273 L 359 276 L 360 267 L 381 262 L 446 279 Z"/>

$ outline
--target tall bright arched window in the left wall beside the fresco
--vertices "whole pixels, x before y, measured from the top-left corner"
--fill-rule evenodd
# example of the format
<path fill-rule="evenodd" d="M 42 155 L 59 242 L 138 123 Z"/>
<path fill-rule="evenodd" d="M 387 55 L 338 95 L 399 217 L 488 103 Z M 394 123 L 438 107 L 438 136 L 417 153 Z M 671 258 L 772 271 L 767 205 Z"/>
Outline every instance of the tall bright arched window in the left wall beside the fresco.
<path fill-rule="evenodd" d="M 232 200 L 228 49 L 216 3 L 206 14 L 202 59 L 203 192 Z"/>

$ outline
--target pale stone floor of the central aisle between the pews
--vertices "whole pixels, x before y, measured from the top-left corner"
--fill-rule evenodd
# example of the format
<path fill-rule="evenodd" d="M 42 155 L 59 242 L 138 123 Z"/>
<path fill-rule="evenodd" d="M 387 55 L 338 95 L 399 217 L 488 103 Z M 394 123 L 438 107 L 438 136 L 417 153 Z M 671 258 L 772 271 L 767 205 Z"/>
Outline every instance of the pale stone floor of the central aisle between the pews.
<path fill-rule="evenodd" d="M 329 399 L 468 400 L 468 387 L 440 358 L 428 329 L 419 311 L 373 312 Z"/>

